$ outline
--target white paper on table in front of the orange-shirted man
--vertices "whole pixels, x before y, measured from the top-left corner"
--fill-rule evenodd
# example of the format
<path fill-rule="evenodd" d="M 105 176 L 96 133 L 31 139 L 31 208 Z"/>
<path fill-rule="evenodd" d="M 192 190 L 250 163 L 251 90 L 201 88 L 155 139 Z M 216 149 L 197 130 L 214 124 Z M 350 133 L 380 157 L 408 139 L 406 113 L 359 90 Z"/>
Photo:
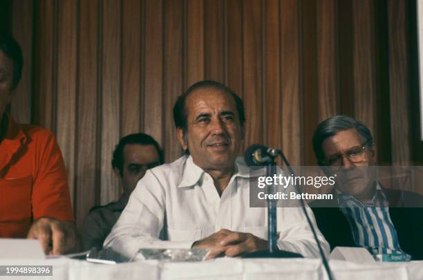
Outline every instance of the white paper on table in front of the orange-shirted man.
<path fill-rule="evenodd" d="M 41 244 L 35 239 L 0 239 L 0 259 L 44 259 Z"/>

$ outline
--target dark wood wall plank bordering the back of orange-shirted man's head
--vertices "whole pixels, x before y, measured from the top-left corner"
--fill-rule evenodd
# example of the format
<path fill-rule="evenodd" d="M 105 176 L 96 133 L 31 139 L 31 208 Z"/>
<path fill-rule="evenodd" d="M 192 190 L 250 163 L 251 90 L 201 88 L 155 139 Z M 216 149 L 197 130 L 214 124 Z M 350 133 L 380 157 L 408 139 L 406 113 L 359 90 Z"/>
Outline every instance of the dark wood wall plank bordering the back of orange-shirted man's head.
<path fill-rule="evenodd" d="M 12 34 L 22 49 L 24 67 L 22 77 L 10 104 L 10 113 L 17 122 L 30 123 L 32 95 L 32 10 L 33 2 L 13 1 Z"/>

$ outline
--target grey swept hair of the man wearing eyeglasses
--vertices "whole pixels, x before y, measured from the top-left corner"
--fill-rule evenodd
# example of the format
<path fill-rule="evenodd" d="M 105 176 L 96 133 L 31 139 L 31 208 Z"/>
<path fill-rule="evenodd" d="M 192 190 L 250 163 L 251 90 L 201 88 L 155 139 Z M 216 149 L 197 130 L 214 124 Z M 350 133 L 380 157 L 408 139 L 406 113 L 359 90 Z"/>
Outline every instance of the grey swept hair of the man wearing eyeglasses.
<path fill-rule="evenodd" d="M 358 133 L 366 140 L 366 146 L 373 146 L 372 133 L 364 124 L 348 117 L 348 115 L 335 115 L 323 120 L 313 134 L 313 150 L 319 165 L 323 165 L 324 154 L 321 148 L 323 141 L 347 129 L 357 129 Z"/>

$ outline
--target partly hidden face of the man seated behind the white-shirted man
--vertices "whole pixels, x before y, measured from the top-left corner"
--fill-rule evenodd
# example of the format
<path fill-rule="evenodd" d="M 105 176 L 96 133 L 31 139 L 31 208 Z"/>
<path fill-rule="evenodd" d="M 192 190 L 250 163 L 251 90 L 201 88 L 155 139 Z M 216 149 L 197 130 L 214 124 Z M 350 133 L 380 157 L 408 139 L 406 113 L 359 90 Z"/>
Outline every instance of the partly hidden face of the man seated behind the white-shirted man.
<path fill-rule="evenodd" d="M 120 178 L 124 194 L 131 194 L 147 169 L 159 164 L 159 155 L 153 145 L 126 144 L 123 151 L 124 165 L 121 176 L 118 168 L 115 174 Z"/>

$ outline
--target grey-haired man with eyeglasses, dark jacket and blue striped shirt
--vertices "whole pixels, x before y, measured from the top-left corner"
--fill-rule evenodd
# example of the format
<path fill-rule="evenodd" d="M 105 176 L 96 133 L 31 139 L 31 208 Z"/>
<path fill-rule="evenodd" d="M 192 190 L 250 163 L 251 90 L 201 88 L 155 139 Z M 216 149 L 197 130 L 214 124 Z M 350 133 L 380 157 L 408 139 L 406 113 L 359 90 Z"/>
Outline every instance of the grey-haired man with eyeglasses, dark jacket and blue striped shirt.
<path fill-rule="evenodd" d="M 364 247 L 370 254 L 410 254 L 423 259 L 423 211 L 399 207 L 400 200 L 423 205 L 419 194 L 386 189 L 375 179 L 376 149 L 369 129 L 346 115 L 319 124 L 313 149 L 323 171 L 335 176 L 332 200 L 310 203 L 330 243 Z"/>

